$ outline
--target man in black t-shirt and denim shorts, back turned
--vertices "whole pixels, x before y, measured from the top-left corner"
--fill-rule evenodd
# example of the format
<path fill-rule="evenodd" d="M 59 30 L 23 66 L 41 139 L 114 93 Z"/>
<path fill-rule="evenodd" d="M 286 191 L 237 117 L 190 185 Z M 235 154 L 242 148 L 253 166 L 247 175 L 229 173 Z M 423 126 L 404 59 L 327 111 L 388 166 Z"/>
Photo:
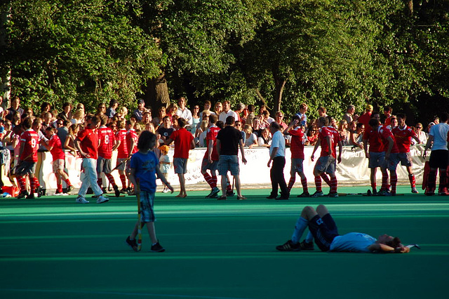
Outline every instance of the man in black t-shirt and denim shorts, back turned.
<path fill-rule="evenodd" d="M 243 139 L 239 130 L 234 128 L 234 117 L 226 118 L 226 126 L 217 135 L 217 152 L 220 155 L 218 160 L 218 174 L 222 176 L 222 196 L 217 199 L 226 199 L 227 172 L 234 175 L 236 182 L 237 199 L 243 200 L 240 191 L 240 168 L 239 168 L 239 145 L 241 152 L 241 161 L 246 164 L 245 152 L 243 151 Z"/>

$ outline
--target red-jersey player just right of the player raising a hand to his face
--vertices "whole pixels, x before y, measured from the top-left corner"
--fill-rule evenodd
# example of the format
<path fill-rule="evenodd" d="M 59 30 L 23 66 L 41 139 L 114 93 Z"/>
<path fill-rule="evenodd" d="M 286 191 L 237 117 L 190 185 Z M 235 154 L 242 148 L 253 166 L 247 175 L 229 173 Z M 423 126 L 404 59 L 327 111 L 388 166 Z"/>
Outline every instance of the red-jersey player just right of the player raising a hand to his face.
<path fill-rule="evenodd" d="M 337 177 L 335 176 L 335 159 L 338 163 L 342 161 L 342 142 L 340 140 L 340 134 L 335 128 L 328 127 L 328 117 L 320 117 L 319 121 L 320 133 L 318 135 L 318 141 L 314 147 L 314 151 L 311 153 L 311 161 L 314 161 L 314 154 L 321 145 L 321 156 L 316 161 L 314 167 L 316 192 L 311 197 L 324 196 L 323 190 L 321 190 L 321 178 L 327 181 L 329 180 L 326 173 L 330 176 L 330 192 L 329 197 L 338 197 L 337 193 Z M 336 155 L 338 145 L 338 157 Z"/>

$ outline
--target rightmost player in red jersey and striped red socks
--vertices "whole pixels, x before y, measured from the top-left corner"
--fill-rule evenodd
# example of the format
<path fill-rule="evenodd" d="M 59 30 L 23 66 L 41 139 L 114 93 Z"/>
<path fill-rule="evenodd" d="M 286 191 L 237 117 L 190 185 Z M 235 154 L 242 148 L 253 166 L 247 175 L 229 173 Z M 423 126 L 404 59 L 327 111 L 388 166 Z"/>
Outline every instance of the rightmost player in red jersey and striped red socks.
<path fill-rule="evenodd" d="M 410 187 L 412 187 L 412 193 L 418 193 L 416 190 L 415 175 L 412 171 L 412 157 L 410 155 L 410 145 L 412 144 L 412 138 L 420 143 L 415 131 L 406 125 L 406 114 L 398 113 L 396 115 L 398 119 L 398 126 L 391 130 L 394 135 L 394 140 L 398 146 L 399 154 L 398 159 L 402 166 L 406 166 L 408 172 L 408 180 L 410 181 Z M 398 161 L 398 162 L 399 162 Z"/>

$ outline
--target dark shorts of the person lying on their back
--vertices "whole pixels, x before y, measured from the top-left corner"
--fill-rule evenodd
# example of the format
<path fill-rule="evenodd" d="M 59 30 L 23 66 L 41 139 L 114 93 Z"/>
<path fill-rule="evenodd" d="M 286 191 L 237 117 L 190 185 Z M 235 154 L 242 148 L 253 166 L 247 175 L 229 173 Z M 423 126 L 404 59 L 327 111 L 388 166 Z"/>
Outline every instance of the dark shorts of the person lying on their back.
<path fill-rule="evenodd" d="M 315 244 L 321 251 L 329 251 L 330 244 L 339 235 L 337 225 L 329 213 L 324 215 L 323 218 L 320 218 L 319 215 L 311 218 L 309 230 L 314 236 Z"/>

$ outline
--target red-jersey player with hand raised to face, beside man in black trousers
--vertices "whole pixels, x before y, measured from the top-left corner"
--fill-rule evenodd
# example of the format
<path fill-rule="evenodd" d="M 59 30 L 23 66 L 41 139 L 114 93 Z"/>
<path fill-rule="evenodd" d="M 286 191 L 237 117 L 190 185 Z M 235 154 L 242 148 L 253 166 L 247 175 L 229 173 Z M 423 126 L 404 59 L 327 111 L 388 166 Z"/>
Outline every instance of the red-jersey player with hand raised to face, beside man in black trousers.
<path fill-rule="evenodd" d="M 292 189 L 296 180 L 296 173 L 300 175 L 302 184 L 302 194 L 297 197 L 309 197 L 309 190 L 307 189 L 307 178 L 304 175 L 303 162 L 304 162 L 304 130 L 300 124 L 300 118 L 295 116 L 293 121 L 290 122 L 284 134 L 290 134 L 292 140 L 290 142 L 290 152 L 291 152 L 291 168 L 290 168 L 290 180 L 288 181 L 288 192 Z"/>

